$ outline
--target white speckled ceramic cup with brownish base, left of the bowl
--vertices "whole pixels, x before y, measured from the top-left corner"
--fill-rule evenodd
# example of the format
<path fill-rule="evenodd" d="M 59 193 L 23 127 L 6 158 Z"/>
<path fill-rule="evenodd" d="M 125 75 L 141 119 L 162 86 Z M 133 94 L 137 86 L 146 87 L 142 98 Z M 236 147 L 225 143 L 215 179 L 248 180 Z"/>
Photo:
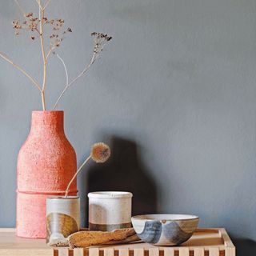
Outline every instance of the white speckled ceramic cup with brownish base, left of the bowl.
<path fill-rule="evenodd" d="M 89 198 L 89 229 L 112 231 L 131 227 L 130 192 L 91 192 Z"/>

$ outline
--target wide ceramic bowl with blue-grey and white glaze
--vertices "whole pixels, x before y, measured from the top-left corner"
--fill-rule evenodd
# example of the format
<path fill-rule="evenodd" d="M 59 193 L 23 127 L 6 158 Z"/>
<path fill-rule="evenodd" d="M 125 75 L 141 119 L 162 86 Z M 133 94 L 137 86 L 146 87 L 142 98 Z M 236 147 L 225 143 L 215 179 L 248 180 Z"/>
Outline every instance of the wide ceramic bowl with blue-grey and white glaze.
<path fill-rule="evenodd" d="M 198 216 L 184 214 L 147 214 L 131 218 L 138 237 L 156 246 L 186 242 L 197 229 L 198 221 Z"/>

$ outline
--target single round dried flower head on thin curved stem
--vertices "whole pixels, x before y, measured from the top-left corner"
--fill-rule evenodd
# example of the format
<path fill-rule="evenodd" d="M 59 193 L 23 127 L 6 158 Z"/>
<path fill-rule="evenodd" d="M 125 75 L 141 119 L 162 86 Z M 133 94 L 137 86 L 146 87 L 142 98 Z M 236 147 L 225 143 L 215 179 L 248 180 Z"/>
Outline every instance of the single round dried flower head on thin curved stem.
<path fill-rule="evenodd" d="M 90 159 L 93 159 L 94 162 L 106 162 L 108 158 L 110 158 L 110 147 L 103 142 L 95 143 L 91 147 L 90 156 L 86 158 L 86 160 L 82 163 L 82 165 L 78 168 L 77 172 L 74 174 L 73 178 L 71 178 L 70 183 L 66 187 L 65 197 L 67 197 L 69 193 L 72 182 L 74 182 L 74 179 L 78 176 L 78 173 L 82 170 L 82 167 L 85 166 Z"/>

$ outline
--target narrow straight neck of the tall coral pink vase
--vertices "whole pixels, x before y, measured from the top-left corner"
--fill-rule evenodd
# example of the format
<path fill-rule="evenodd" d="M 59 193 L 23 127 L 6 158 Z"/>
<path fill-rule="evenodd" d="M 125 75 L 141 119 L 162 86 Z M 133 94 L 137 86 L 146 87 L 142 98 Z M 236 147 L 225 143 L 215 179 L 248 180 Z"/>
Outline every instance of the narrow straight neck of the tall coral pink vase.
<path fill-rule="evenodd" d="M 33 111 L 31 132 L 45 133 L 46 131 L 64 133 L 63 111 Z"/>

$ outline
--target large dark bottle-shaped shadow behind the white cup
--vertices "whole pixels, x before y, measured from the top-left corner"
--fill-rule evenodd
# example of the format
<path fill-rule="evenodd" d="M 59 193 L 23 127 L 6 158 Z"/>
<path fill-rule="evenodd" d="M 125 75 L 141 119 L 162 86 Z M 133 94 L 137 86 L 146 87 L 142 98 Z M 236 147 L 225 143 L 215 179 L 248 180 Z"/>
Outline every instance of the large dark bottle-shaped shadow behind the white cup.
<path fill-rule="evenodd" d="M 138 158 L 138 146 L 125 138 L 110 140 L 111 157 L 104 164 L 90 166 L 87 173 L 87 191 L 130 191 L 133 197 L 133 215 L 157 211 L 156 184 Z M 86 204 L 88 212 L 88 203 Z"/>

